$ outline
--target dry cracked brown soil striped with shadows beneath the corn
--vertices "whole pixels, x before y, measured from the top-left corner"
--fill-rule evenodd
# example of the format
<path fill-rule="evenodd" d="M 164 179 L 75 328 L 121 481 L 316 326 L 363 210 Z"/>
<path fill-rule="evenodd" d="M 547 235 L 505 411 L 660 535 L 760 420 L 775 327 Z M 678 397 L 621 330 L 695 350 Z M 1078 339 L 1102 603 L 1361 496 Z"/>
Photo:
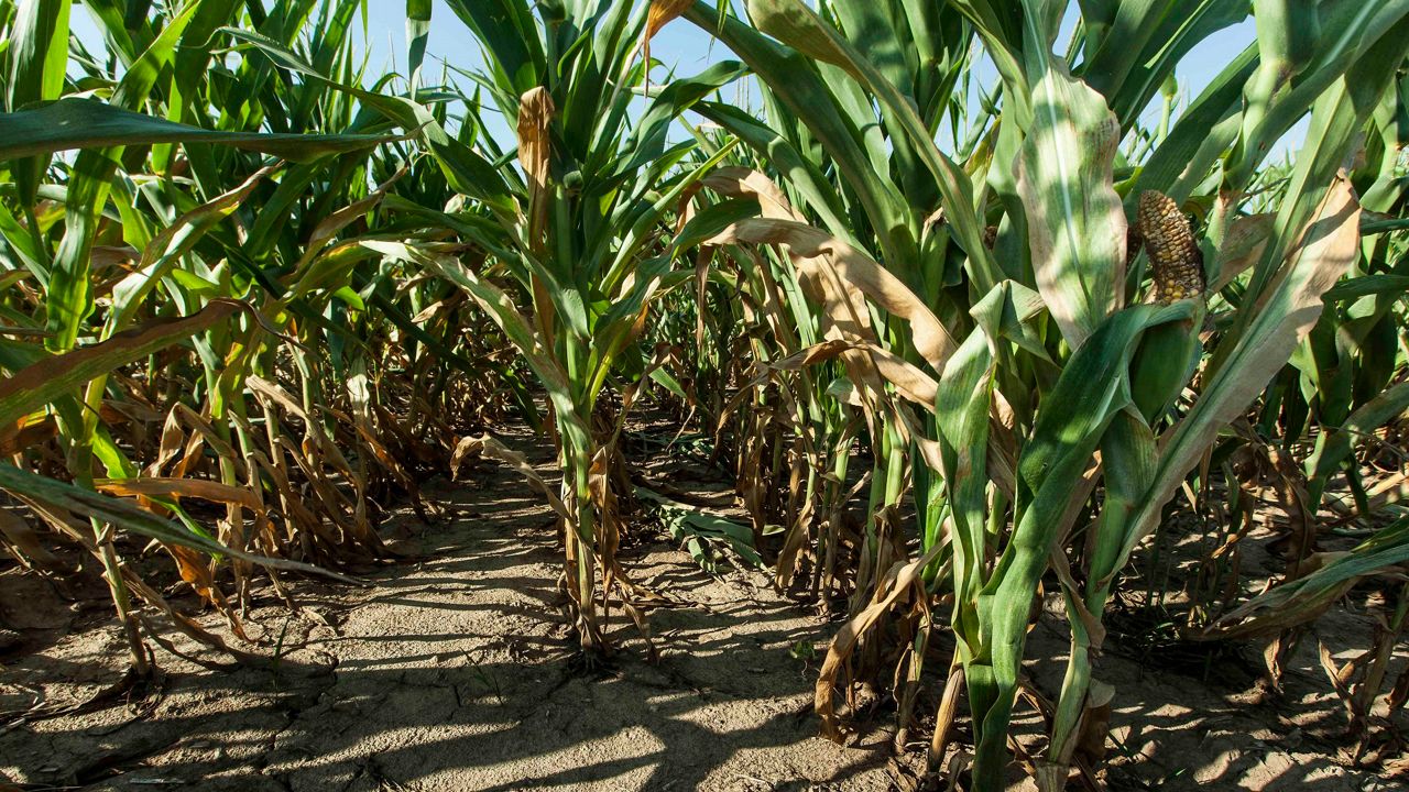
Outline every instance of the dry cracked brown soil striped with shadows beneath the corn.
<path fill-rule="evenodd" d="M 541 445 L 533 458 L 547 475 Z M 893 709 L 857 719 L 848 747 L 816 736 L 816 668 L 788 650 L 802 641 L 821 651 L 836 626 L 762 574 L 710 576 L 675 545 L 643 540 L 627 550 L 626 568 L 679 605 L 650 613 L 662 658 L 643 660 L 640 633 L 617 610 L 613 636 L 624 648 L 610 667 L 578 668 L 555 586 L 551 513 L 493 465 L 466 478 L 426 485 L 448 510 L 440 524 L 393 521 L 389 534 L 411 558 L 369 575 L 372 586 L 297 582 L 299 614 L 262 598 L 269 605 L 251 612 L 248 627 L 265 651 L 278 647 L 273 668 L 210 669 L 159 651 L 168 674 L 141 714 L 118 702 L 0 726 L 0 781 L 27 789 L 913 788 L 923 754 L 895 755 Z M 85 603 L 75 617 L 62 602 L 45 605 L 52 590 L 14 569 L 0 575 L 0 617 L 13 624 L 20 598 L 31 614 L 23 651 L 0 668 L 0 710 L 35 698 L 79 700 L 121 675 L 106 612 Z M 1029 674 L 1051 695 L 1065 629 L 1051 603 L 1047 610 L 1029 651 L 1043 660 L 1029 662 Z M 203 623 L 220 626 L 209 614 Z M 224 662 L 185 638 L 176 647 Z M 1301 660 L 1310 665 L 1295 667 L 1272 705 L 1109 652 L 1098 667 L 1116 685 L 1109 788 L 1374 789 L 1374 771 L 1333 761 L 1339 702 L 1313 674 L 1315 657 Z M 917 707 L 924 717 L 941 686 L 929 683 L 931 698 Z M 1022 712 L 1014 726 L 1020 743 L 1041 745 L 1034 713 Z"/>

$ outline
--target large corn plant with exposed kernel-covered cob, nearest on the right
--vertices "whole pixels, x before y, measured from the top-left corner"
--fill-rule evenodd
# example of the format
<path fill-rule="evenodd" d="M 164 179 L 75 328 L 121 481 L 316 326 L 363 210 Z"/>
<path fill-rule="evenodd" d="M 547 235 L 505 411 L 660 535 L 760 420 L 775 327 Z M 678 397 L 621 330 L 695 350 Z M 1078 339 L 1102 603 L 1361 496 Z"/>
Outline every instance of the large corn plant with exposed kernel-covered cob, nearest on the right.
<path fill-rule="evenodd" d="M 1200 3 L 1192 14 L 1130 16 L 1134 6 L 1084 4 L 1078 38 L 1064 56 L 1051 48 L 1065 4 L 957 3 L 998 65 L 1003 89 L 1002 118 L 986 132 L 991 159 L 971 161 L 969 168 L 934 147 L 929 132 L 934 124 L 917 116 L 926 106 L 905 93 L 913 75 L 902 68 L 910 55 L 900 42 L 916 34 L 923 17 L 859 3 L 824 3 L 817 10 L 785 0 L 748 3 L 751 21 L 788 45 L 781 47 L 727 14 L 720 21 L 703 4 L 692 11 L 702 27 L 721 30 L 721 39 L 769 85 L 779 104 L 786 103 L 783 124 L 807 127 L 836 161 L 847 187 L 861 193 L 885 185 L 883 176 L 858 166 L 865 162 L 855 154 L 859 130 L 889 132 L 898 169 L 906 165 L 902 145 L 914 147 L 914 161 L 933 179 L 931 190 L 962 251 L 968 296 L 958 306 L 969 306 L 976 327 L 940 323 L 944 333 L 952 327 L 954 337 L 967 334 L 962 342 L 933 334 L 944 341 L 936 342 L 937 354 L 926 361 L 938 373 L 937 389 L 929 392 L 937 393 L 933 441 L 940 454 L 924 457 L 924 438 L 917 443 L 944 488 L 952 629 L 976 730 L 981 789 L 1003 784 L 1029 610 L 1051 558 L 1062 559 L 1055 571 L 1074 643 L 1040 781 L 1045 788 L 1065 782 L 1091 688 L 1089 652 L 1099 648 L 1100 613 L 1116 574 L 1216 441 L 1219 427 L 1248 407 L 1310 331 L 1322 296 L 1355 259 L 1360 206 L 1336 171 L 1403 55 L 1388 32 L 1403 17 L 1398 6 L 1258 4 L 1257 47 L 1213 80 L 1143 163 L 1122 163 L 1124 175 L 1117 182 L 1117 144 L 1179 56 L 1246 13 L 1237 3 Z M 1107 38 L 1117 27 L 1119 41 Z M 862 55 L 852 44 L 861 37 L 885 45 L 872 44 Z M 1150 56 L 1141 56 L 1141 48 Z M 805 58 L 819 65 L 809 68 Z M 848 103 L 845 92 L 864 92 L 871 101 Z M 883 123 L 841 125 L 844 114 L 837 110 L 845 107 L 858 109 L 852 113 L 867 121 L 881 109 Z M 1255 254 L 1226 261 L 1231 256 L 1219 251 L 1233 234 L 1236 209 L 1257 165 L 1271 141 L 1308 110 L 1310 134 L 1270 231 Z M 782 155 L 774 165 L 793 189 L 817 189 L 810 175 L 816 168 L 797 168 Z M 1217 192 L 1200 244 L 1179 203 L 1205 183 L 1213 165 L 1220 165 L 1222 178 L 1212 185 Z M 986 178 L 986 200 L 975 203 L 969 172 Z M 993 224 L 992 252 L 975 207 L 1000 217 Z M 1138 252 L 1127 244 L 1131 224 L 1144 237 L 1148 259 L 1131 255 Z M 848 271 L 858 258 L 841 234 L 819 242 L 796 225 L 778 223 L 771 228 L 738 224 L 728 241 L 738 240 L 785 242 L 799 261 L 823 255 Z M 913 254 L 878 248 L 886 269 L 903 280 Z M 1146 262 L 1154 280 L 1148 292 L 1141 286 Z M 1246 266 L 1251 273 L 1241 272 Z M 1205 359 L 1199 341 L 1208 310 L 1205 282 L 1227 290 L 1234 279 L 1237 299 L 1220 303 L 1226 307 L 1217 317 L 1227 330 L 1217 334 Z M 850 278 L 845 286 L 869 297 L 882 316 L 899 313 L 906 303 L 926 307 L 936 318 L 955 313 L 952 293 L 913 292 L 912 286 L 913 293 L 931 297 L 912 293 L 905 300 L 895 296 L 900 285 L 883 292 L 874 282 Z M 1029 299 L 1033 293 L 1041 299 L 1037 310 Z M 1143 293 L 1150 302 L 1137 304 Z M 912 309 L 902 316 L 913 320 L 923 313 Z M 867 324 L 862 320 L 852 333 L 865 338 Z M 923 324 L 930 326 L 930 318 Z M 919 347 L 920 323 L 912 321 L 910 328 Z M 1027 355 L 1031 362 L 1022 362 Z M 876 352 L 871 357 L 878 359 Z M 1196 396 L 1171 413 L 1196 369 Z M 916 372 L 905 373 L 913 379 Z M 882 385 L 889 388 L 914 390 L 893 378 Z M 991 464 L 1013 450 L 1005 428 L 1017 440 L 1013 474 Z M 1103 497 L 1093 503 L 1091 523 L 1078 526 L 1102 481 Z M 1084 582 L 1062 558 L 1074 534 L 1085 536 L 1086 550 L 1076 552 L 1085 562 Z M 889 607 L 898 590 L 943 552 L 940 544 L 927 544 L 919 559 L 896 565 L 872 609 Z M 851 630 L 865 630 L 876 617 L 862 613 Z M 847 641 L 834 641 L 828 661 L 854 641 L 847 633 Z M 824 665 L 820 709 L 831 696 L 827 686 Z"/>

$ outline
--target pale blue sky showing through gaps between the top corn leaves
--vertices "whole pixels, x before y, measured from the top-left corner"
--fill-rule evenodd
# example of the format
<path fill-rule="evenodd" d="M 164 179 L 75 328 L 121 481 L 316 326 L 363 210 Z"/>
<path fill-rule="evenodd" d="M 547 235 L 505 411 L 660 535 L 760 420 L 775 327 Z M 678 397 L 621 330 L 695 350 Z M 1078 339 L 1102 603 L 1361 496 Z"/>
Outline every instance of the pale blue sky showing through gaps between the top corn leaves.
<path fill-rule="evenodd" d="M 621 0 L 628 1 L 628 0 Z M 644 0 L 635 0 L 644 1 Z M 406 3 L 404 0 L 366 0 L 368 8 L 368 41 L 371 49 L 371 65 L 375 73 L 380 73 L 383 66 L 395 62 L 396 70 L 406 72 Z M 1068 16 L 1068 20 L 1072 16 Z M 1069 24 L 1069 23 L 1068 23 Z M 96 42 L 97 30 L 86 11 L 75 7 L 73 32 L 83 41 Z M 1186 103 L 1212 80 L 1223 66 L 1241 52 L 1255 38 L 1253 21 L 1247 20 L 1239 25 L 1222 30 L 1200 42 L 1179 63 L 1177 78 L 1179 93 Z M 721 44 L 714 42 L 706 32 L 685 20 L 676 20 L 665 27 L 651 47 L 651 55 L 658 61 L 675 66 L 678 73 L 695 73 L 716 61 L 730 58 L 730 52 Z M 427 78 L 434 80 L 438 76 L 438 61 L 466 70 L 475 70 L 483 65 L 480 49 L 469 28 L 455 16 L 444 0 L 435 0 L 431 16 L 430 42 L 427 45 Z M 982 75 L 982 72 L 981 72 Z M 982 75 L 983 79 L 993 79 L 992 70 Z M 1151 109 L 1154 113 L 1154 109 Z M 493 124 L 490 131 L 499 137 L 507 134 L 507 127 Z M 496 128 L 497 127 L 497 128 Z M 1306 121 L 1292 128 L 1278 145 L 1282 151 L 1301 147 L 1306 134 Z"/>

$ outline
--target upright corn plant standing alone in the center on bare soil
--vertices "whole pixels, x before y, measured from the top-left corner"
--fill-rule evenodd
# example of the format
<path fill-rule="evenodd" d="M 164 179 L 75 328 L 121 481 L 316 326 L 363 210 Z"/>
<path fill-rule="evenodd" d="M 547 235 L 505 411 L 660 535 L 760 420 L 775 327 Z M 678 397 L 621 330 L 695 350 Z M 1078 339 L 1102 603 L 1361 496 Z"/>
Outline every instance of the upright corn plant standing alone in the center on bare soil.
<path fill-rule="evenodd" d="M 519 169 L 497 151 L 485 156 L 448 137 L 431 141 L 447 173 L 466 176 L 458 190 L 483 200 L 486 180 L 502 186 L 485 202 L 492 211 L 420 211 L 454 228 L 458 244 L 369 247 L 414 259 L 464 287 L 545 389 L 562 469 L 559 496 L 550 500 L 564 527 L 565 589 L 583 650 L 600 651 L 607 638 L 597 614 L 599 582 L 603 598 L 619 589 L 638 621 L 640 613 L 614 558 L 617 497 L 624 495 L 617 492 L 624 481 L 614 445 L 617 416 L 599 400 L 613 383 L 626 396 L 643 375 L 647 361 L 637 338 L 650 303 L 690 278 L 672 271 L 678 251 L 661 240 L 662 218 L 724 154 L 693 169 L 676 168 L 695 144 L 671 145 L 668 127 L 741 68 L 721 63 L 699 78 L 672 80 L 644 101 L 643 54 L 650 35 L 671 18 L 669 4 L 449 6 L 485 47 L 489 73 L 472 78 L 511 121 Z M 421 8 L 421 17 L 428 13 Z M 413 31 L 428 24 L 416 17 L 413 23 Z M 473 262 L 452 255 L 466 247 L 475 251 Z M 492 443 L 485 448 L 503 454 Z"/>

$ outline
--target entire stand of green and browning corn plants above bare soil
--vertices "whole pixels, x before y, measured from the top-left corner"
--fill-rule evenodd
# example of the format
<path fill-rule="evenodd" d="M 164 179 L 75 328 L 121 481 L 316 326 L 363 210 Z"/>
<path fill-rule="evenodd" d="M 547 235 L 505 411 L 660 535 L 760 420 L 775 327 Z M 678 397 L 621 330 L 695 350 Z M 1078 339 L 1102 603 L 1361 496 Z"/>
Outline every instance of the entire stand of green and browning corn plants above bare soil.
<path fill-rule="evenodd" d="M 382 70 L 359 0 L 0 0 L 0 583 L 93 583 L 125 669 L 10 695 L 0 585 L 0 753 L 190 652 L 278 678 L 503 490 L 583 689 L 689 691 L 664 543 L 810 614 L 766 657 L 893 788 L 1160 788 L 1131 654 L 1409 779 L 1409 1 L 372 4 Z M 886 788 L 679 788 L 809 781 Z"/>

